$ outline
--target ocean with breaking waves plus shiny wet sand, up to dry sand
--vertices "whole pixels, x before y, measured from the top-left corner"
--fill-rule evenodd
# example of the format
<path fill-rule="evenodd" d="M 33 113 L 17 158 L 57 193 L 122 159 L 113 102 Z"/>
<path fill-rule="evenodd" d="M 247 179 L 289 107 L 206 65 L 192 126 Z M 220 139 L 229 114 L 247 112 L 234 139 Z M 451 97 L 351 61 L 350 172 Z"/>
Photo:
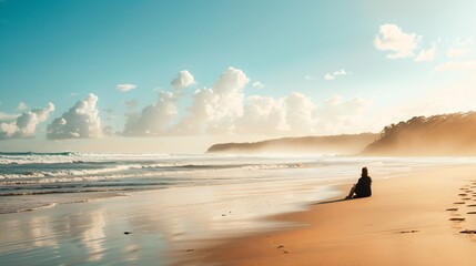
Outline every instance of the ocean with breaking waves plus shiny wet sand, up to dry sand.
<path fill-rule="evenodd" d="M 335 186 L 355 182 L 363 166 L 377 182 L 475 162 L 322 154 L 0 153 L 0 263 L 168 265 L 169 254 L 193 241 L 294 226 L 256 221 L 344 197 Z M 123 238 L 124 232 L 134 238 Z M 118 249 L 118 243 L 129 249 Z"/>

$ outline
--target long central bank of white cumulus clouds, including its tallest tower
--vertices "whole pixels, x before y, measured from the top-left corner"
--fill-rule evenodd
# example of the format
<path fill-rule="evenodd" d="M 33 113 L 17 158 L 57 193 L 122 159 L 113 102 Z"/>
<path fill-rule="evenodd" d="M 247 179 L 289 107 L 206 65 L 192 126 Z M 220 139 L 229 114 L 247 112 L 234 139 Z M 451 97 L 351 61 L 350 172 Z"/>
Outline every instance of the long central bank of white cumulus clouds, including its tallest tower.
<path fill-rule="evenodd" d="M 345 70 L 333 72 L 346 73 Z M 356 123 L 363 121 L 371 105 L 371 101 L 364 99 L 344 101 L 336 96 L 318 108 L 301 92 L 281 98 L 245 98 L 243 90 L 249 82 L 242 70 L 229 68 L 212 88 L 195 90 L 184 114 L 179 113 L 178 92 L 162 91 L 155 103 L 140 113 L 129 114 L 123 135 L 297 135 L 330 133 L 338 126 L 357 132 L 356 129 L 363 127 Z"/>

